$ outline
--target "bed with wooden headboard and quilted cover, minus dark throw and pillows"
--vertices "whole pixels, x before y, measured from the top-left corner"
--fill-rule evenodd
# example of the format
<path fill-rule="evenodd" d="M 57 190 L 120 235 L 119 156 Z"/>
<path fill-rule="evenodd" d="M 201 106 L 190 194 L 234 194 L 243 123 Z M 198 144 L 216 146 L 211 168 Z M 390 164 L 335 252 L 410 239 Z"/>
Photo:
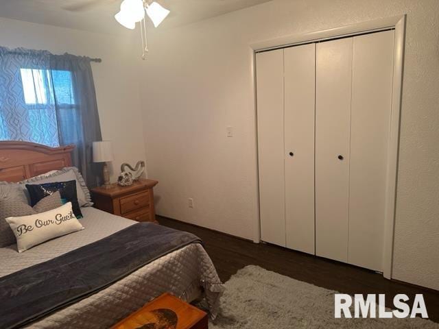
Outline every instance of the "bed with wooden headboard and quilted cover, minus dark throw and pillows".
<path fill-rule="evenodd" d="M 69 167 L 72 149 L 0 142 L 0 180 L 19 182 L 40 173 Z M 114 236 L 137 223 L 91 207 L 81 210 L 84 217 L 80 221 L 85 230 L 47 241 L 22 254 L 16 252 L 15 245 L 0 248 L 0 280 Z M 132 271 L 93 295 L 37 318 L 25 328 L 109 328 L 165 291 L 188 302 L 204 297 L 211 317 L 215 317 L 223 290 L 202 245 L 190 243 Z M 0 319 L 0 328 L 3 328 L 1 323 Z"/>

